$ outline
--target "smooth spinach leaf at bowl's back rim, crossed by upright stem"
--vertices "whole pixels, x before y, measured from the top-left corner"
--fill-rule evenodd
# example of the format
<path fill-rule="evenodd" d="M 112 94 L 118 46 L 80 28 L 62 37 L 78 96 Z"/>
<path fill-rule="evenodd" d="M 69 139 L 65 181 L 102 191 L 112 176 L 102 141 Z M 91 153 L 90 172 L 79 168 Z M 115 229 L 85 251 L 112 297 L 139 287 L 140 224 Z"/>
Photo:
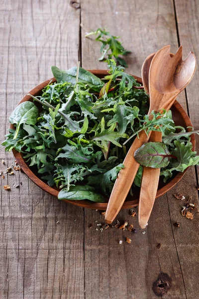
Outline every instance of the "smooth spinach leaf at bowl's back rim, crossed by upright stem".
<path fill-rule="evenodd" d="M 63 81 L 63 82 L 70 82 L 72 84 L 76 83 L 77 67 L 72 67 L 67 71 L 62 71 L 56 66 L 51 66 L 51 71 L 55 79 L 57 80 L 57 82 Z M 78 79 L 79 82 L 88 84 L 90 87 L 94 87 L 94 86 L 101 87 L 103 85 L 103 82 L 100 80 L 100 78 L 98 78 L 91 72 L 83 69 L 82 67 L 80 67 Z"/>

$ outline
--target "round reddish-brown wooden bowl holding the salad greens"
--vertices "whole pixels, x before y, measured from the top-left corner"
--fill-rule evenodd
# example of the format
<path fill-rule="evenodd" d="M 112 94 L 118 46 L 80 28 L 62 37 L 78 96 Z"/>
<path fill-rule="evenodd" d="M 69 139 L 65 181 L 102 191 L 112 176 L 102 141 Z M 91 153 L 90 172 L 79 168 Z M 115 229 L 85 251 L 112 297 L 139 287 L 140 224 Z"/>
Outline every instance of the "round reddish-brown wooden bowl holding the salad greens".
<path fill-rule="evenodd" d="M 93 74 L 95 74 L 96 76 L 98 76 L 100 78 L 103 78 L 105 75 L 107 75 L 107 71 L 105 71 L 105 70 L 90 70 L 90 72 L 92 72 Z M 142 83 L 141 78 L 136 77 L 136 76 L 134 76 L 134 77 L 137 79 L 137 81 L 139 83 Z M 46 85 L 48 85 L 50 81 L 55 82 L 56 80 L 55 80 L 55 78 L 47 80 L 47 81 L 39 84 L 38 86 L 36 86 L 29 93 L 33 96 L 41 95 L 42 89 Z M 20 103 L 25 102 L 25 101 L 32 101 L 32 98 L 30 96 L 26 95 L 20 101 Z M 38 104 L 38 103 L 36 103 L 36 104 Z M 183 107 L 178 103 L 178 101 L 175 101 L 175 103 L 172 106 L 171 110 L 172 110 L 174 122 L 177 126 L 181 125 L 185 128 L 186 127 L 193 127 L 189 116 L 187 115 L 187 113 L 185 112 Z M 10 125 L 10 128 L 14 129 L 14 126 Z M 191 135 L 191 142 L 193 144 L 193 150 L 195 150 L 196 140 L 195 140 L 194 134 Z M 59 189 L 56 186 L 50 187 L 45 181 L 41 180 L 38 177 L 39 174 L 37 173 L 37 169 L 34 168 L 34 167 L 29 167 L 28 166 L 28 164 L 23 159 L 22 153 L 14 150 L 14 149 L 12 151 L 13 151 L 13 154 L 14 154 L 14 157 L 15 157 L 16 161 L 20 165 L 21 169 L 27 174 L 27 176 L 35 184 L 37 184 L 41 189 L 45 190 L 46 192 L 48 192 L 49 194 L 51 194 L 55 197 L 58 197 Z M 158 198 L 159 196 L 165 194 L 173 186 L 175 186 L 179 182 L 179 180 L 185 175 L 185 172 L 187 171 L 187 169 L 184 172 L 176 172 L 176 175 L 174 177 L 172 177 L 170 180 L 168 180 L 167 183 L 164 183 L 163 178 L 160 177 L 160 182 L 159 182 L 156 198 Z M 126 198 L 126 200 L 125 200 L 125 202 L 122 206 L 122 209 L 127 209 L 127 208 L 129 209 L 131 207 L 134 207 L 134 206 L 138 205 L 139 188 L 138 187 L 133 188 L 133 193 L 134 193 L 133 196 L 131 196 L 131 195 L 127 196 L 127 198 Z M 81 206 L 81 207 L 105 210 L 106 207 L 107 207 L 108 198 L 106 198 L 105 200 L 106 200 L 106 202 L 104 202 L 104 203 L 91 202 L 89 200 L 65 200 L 65 201 L 69 202 L 69 203 L 72 203 L 74 205 Z"/>

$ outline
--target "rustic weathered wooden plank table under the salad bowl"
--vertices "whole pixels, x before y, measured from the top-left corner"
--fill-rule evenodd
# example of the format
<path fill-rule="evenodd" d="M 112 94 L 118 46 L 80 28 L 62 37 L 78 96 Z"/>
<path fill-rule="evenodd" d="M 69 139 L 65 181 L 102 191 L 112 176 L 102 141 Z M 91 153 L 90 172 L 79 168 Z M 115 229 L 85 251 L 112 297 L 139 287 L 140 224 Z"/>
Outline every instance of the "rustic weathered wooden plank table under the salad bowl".
<path fill-rule="evenodd" d="M 13 108 L 52 76 L 51 65 L 67 69 L 80 59 L 86 69 L 106 67 L 98 61 L 100 44 L 84 37 L 91 29 L 107 27 L 122 37 L 132 51 L 127 71 L 134 75 L 141 75 L 147 55 L 167 44 L 173 52 L 182 44 L 184 57 L 193 50 L 199 59 L 197 0 L 7 0 L 0 10 L 0 141 Z M 178 97 L 195 129 L 198 82 L 197 70 Z M 14 161 L 3 147 L 0 158 L 3 171 Z M 168 292 L 160 297 L 199 298 L 199 216 L 195 212 L 193 221 L 182 217 L 182 201 L 173 196 L 180 192 L 198 202 L 197 179 L 191 167 L 156 200 L 145 234 L 137 217 L 120 212 L 118 220 L 129 219 L 137 229 L 133 234 L 116 228 L 97 231 L 96 221 L 104 221 L 99 211 L 58 202 L 21 172 L 1 178 L 0 299 L 155 299 L 161 279 L 168 282 Z M 11 191 L 2 188 L 5 184 Z M 174 227 L 176 221 L 180 228 Z M 158 278 L 159 289 L 154 289 Z"/>

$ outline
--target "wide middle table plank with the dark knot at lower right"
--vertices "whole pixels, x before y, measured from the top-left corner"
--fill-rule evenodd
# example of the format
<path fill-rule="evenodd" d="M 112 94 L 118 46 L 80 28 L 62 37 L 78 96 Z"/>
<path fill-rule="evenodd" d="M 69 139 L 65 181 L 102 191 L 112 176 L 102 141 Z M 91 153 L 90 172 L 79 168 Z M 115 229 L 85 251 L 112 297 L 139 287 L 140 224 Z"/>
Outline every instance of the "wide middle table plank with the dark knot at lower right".
<path fill-rule="evenodd" d="M 141 66 L 147 55 L 166 44 L 171 44 L 173 52 L 178 48 L 175 11 L 171 0 L 141 0 L 139 3 L 135 0 L 88 0 L 83 1 L 81 10 L 82 64 L 87 69 L 106 68 L 103 62 L 97 60 L 100 57 L 100 44 L 93 41 L 92 37 L 84 37 L 86 32 L 98 27 L 106 27 L 113 35 L 121 36 L 124 47 L 132 51 L 127 71 L 137 76 L 141 75 Z M 186 108 L 185 93 L 178 100 Z M 137 218 L 131 218 L 131 223 L 137 229 L 136 234 L 115 228 L 96 231 L 98 226 L 95 221 L 103 223 L 104 220 L 99 212 L 85 209 L 86 298 L 157 298 L 152 288 L 158 276 L 164 278 L 164 274 L 171 280 L 171 288 L 164 298 L 194 298 L 193 295 L 199 292 L 198 287 L 195 286 L 192 292 L 188 288 L 190 297 L 187 297 L 186 290 L 187 282 L 191 278 L 196 280 L 197 271 L 195 266 L 189 267 L 185 251 L 191 242 L 193 254 L 195 242 L 190 234 L 185 237 L 182 228 L 186 228 L 186 232 L 189 228 L 194 229 L 198 219 L 191 222 L 182 217 L 182 202 L 172 194 L 183 188 L 187 196 L 192 194 L 197 201 L 198 193 L 193 188 L 195 185 L 195 170 L 191 168 L 175 189 L 156 200 L 145 234 L 138 228 Z M 129 218 L 128 211 L 121 211 L 118 215 L 121 223 Z M 178 220 L 182 226 L 179 230 L 173 226 Z M 89 228 L 90 224 L 93 224 L 92 228 Z M 132 239 L 131 244 L 125 242 L 126 236 Z M 123 243 L 119 244 L 119 240 Z M 159 243 L 160 249 L 156 247 Z M 182 253 L 180 256 L 179 251 Z M 195 253 L 192 266 L 196 261 Z M 190 275 L 191 269 L 193 275 Z"/>

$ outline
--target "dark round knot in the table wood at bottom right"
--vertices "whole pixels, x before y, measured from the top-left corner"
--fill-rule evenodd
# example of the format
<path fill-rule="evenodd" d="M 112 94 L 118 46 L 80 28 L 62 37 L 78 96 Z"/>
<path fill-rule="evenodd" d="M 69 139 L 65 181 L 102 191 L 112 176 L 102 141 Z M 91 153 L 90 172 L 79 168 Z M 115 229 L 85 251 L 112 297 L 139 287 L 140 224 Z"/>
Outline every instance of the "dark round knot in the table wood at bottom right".
<path fill-rule="evenodd" d="M 153 283 L 152 290 L 156 296 L 161 297 L 171 289 L 172 280 L 166 273 L 161 273 Z"/>

